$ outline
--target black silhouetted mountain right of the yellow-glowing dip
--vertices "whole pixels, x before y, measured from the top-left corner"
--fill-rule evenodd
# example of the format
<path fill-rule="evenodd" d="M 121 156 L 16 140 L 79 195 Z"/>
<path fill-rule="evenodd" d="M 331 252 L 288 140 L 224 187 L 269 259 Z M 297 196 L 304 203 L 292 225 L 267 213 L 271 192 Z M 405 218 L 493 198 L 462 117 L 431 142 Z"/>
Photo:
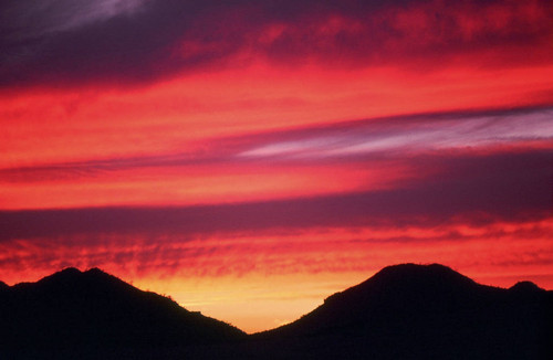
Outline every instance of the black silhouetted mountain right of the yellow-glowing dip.
<path fill-rule="evenodd" d="M 549 359 L 553 297 L 483 286 L 442 265 L 386 267 L 298 321 L 255 335 L 299 358 Z M 306 350 L 309 349 L 309 350 Z"/>

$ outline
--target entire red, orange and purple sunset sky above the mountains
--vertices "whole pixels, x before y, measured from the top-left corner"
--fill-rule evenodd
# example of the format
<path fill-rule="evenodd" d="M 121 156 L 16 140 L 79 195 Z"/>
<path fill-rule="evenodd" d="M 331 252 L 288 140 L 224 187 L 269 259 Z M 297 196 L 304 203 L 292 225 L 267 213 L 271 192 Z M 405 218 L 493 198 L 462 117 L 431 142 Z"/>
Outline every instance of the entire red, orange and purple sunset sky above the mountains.
<path fill-rule="evenodd" d="M 553 288 L 547 0 L 0 0 L 0 279 L 248 332 L 399 263 Z"/>

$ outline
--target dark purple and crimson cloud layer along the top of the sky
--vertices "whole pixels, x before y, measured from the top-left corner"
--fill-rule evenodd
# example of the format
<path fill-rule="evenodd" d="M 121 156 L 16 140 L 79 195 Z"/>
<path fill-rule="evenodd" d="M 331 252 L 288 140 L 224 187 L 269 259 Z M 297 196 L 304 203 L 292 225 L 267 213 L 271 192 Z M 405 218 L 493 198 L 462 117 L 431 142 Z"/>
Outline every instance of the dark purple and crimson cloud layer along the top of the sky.
<path fill-rule="evenodd" d="M 2 0 L 0 14 L 1 86 L 148 82 L 237 54 L 427 68 L 457 55 L 486 53 L 494 66 L 552 55 L 546 0 Z"/>

